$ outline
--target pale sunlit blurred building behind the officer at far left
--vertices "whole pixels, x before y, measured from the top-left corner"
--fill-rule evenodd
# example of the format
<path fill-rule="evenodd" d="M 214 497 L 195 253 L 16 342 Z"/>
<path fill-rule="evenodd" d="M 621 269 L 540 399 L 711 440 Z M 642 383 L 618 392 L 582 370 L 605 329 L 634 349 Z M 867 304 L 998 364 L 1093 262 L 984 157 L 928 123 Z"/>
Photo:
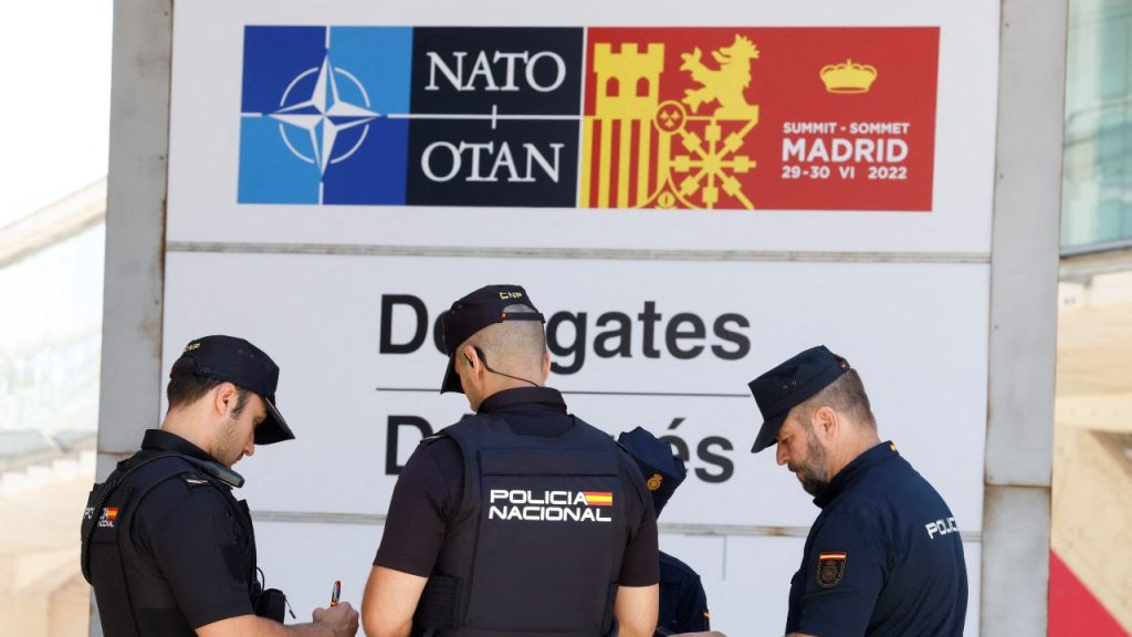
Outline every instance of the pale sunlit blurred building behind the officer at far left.
<path fill-rule="evenodd" d="M 76 529 L 95 475 L 105 223 L 62 216 L 51 230 L 77 233 L 49 245 L 0 233 L 35 250 L 0 266 L 2 635 L 91 623 Z"/>

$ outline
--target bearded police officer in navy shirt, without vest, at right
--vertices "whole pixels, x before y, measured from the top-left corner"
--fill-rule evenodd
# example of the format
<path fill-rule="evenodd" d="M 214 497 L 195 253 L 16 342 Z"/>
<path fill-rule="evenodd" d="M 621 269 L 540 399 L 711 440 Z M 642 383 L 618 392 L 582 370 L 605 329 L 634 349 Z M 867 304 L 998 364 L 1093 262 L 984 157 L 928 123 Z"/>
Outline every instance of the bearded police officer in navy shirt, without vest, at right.
<path fill-rule="evenodd" d="M 954 518 L 881 442 L 849 362 L 807 349 L 749 383 L 763 415 L 752 452 L 778 444 L 822 512 L 790 583 L 789 635 L 962 635 L 967 569 Z"/>

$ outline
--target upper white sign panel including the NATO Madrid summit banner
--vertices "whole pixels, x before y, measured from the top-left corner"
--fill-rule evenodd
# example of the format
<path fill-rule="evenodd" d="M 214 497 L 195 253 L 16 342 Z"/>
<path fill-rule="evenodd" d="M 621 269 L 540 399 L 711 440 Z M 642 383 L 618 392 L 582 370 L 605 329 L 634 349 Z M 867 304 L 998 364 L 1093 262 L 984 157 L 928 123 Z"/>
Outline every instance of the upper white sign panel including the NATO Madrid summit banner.
<path fill-rule="evenodd" d="M 179 7 L 168 239 L 986 253 L 997 7 L 846 12 Z"/>

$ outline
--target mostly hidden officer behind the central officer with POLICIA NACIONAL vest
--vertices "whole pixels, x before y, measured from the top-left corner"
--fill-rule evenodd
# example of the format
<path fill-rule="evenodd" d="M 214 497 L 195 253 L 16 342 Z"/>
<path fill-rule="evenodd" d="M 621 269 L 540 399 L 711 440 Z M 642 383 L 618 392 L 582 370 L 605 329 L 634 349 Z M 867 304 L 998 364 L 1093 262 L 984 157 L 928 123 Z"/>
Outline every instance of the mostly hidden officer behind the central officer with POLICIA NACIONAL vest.
<path fill-rule="evenodd" d="M 652 507 L 660 511 L 687 476 L 684 460 L 672 455 L 664 441 L 637 427 L 617 436 L 617 442 L 636 460 L 652 494 Z M 660 552 L 660 614 L 657 637 L 710 630 L 707 594 L 700 574 L 672 555 Z"/>

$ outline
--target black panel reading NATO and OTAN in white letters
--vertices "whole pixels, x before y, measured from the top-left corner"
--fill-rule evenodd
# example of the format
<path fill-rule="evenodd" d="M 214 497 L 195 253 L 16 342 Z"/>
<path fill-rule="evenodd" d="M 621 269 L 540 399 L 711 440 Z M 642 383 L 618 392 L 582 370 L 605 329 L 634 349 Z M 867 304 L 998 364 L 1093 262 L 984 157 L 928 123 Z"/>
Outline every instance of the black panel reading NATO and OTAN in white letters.
<path fill-rule="evenodd" d="M 574 206 L 581 28 L 413 31 L 410 205 Z"/>

